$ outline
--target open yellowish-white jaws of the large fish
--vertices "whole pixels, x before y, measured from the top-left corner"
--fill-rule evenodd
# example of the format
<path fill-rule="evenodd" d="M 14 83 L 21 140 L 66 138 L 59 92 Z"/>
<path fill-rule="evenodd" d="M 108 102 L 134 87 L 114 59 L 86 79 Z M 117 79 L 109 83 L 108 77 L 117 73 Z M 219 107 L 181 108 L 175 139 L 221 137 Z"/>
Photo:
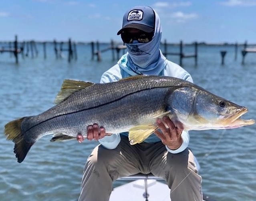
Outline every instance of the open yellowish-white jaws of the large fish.
<path fill-rule="evenodd" d="M 244 125 L 252 125 L 255 123 L 254 119 L 242 119 L 241 116 L 248 112 L 246 107 L 240 107 L 234 109 L 234 114 L 225 118 L 224 124 L 226 124 L 225 128 L 237 128 Z"/>

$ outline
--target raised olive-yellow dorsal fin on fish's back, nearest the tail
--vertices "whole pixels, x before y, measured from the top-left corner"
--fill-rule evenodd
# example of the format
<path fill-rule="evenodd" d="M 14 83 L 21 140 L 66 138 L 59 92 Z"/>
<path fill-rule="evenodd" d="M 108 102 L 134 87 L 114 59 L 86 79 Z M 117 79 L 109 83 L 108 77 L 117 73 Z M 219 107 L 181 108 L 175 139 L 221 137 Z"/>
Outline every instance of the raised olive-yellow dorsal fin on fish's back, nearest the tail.
<path fill-rule="evenodd" d="M 58 92 L 54 103 L 58 104 L 64 100 L 66 100 L 69 96 L 74 94 L 75 92 L 82 90 L 84 88 L 87 88 L 94 83 L 91 82 L 84 82 L 84 81 L 78 81 L 78 80 L 64 80 L 60 89 L 60 92 Z"/>

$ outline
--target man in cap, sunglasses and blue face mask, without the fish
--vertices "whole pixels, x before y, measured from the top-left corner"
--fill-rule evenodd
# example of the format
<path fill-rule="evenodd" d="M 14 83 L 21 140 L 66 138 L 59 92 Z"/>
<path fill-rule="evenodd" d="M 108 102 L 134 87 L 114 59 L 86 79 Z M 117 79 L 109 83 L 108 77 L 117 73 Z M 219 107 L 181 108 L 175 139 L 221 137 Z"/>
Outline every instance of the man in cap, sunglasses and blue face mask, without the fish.
<path fill-rule="evenodd" d="M 101 83 L 140 74 L 193 82 L 183 68 L 161 53 L 160 21 L 152 8 L 136 6 L 128 10 L 119 34 L 128 52 L 102 75 Z M 105 133 L 104 127 L 96 123 L 87 127 L 87 138 L 99 140 L 101 145 L 95 147 L 85 165 L 79 201 L 108 201 L 113 181 L 140 172 L 165 179 L 172 201 L 202 200 L 201 177 L 187 148 L 188 133 L 169 117 L 157 119 L 156 123 L 159 130 L 136 145 L 129 144 L 128 133 Z M 78 140 L 83 141 L 83 137 L 78 135 Z"/>

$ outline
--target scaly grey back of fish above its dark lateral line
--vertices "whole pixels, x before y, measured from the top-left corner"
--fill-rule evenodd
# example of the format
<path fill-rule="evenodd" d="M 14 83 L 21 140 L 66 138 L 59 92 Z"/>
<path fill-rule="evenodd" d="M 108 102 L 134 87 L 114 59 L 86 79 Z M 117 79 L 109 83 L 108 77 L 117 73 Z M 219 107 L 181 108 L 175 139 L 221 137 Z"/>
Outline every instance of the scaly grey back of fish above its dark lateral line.
<path fill-rule="evenodd" d="M 94 84 L 72 94 L 67 100 L 55 105 L 47 111 L 30 117 L 29 119 L 24 119 L 22 129 L 26 131 L 36 126 L 38 123 L 65 114 L 74 114 L 74 116 L 77 117 L 75 114 L 78 111 L 82 111 L 79 112 L 81 114 L 88 109 L 92 110 L 94 108 L 104 107 L 104 105 L 109 105 L 109 103 L 121 100 L 129 94 L 137 94 L 143 90 L 150 91 L 153 88 L 169 88 L 184 84 L 190 85 L 190 82 L 164 76 L 145 76 L 141 79 L 127 79 L 106 84 Z"/>

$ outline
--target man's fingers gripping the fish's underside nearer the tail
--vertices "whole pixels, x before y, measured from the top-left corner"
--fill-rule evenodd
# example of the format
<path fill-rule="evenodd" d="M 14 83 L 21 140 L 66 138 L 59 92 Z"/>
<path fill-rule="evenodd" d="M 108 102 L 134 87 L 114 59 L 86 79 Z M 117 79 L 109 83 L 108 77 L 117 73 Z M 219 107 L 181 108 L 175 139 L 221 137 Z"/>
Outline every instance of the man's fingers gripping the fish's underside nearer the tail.
<path fill-rule="evenodd" d="M 98 126 L 97 123 L 94 123 L 93 125 L 87 126 L 87 139 L 88 140 L 99 140 L 106 135 L 112 135 L 112 133 L 106 133 L 104 127 Z M 85 139 L 81 133 L 77 134 L 77 141 L 82 142 Z"/>

